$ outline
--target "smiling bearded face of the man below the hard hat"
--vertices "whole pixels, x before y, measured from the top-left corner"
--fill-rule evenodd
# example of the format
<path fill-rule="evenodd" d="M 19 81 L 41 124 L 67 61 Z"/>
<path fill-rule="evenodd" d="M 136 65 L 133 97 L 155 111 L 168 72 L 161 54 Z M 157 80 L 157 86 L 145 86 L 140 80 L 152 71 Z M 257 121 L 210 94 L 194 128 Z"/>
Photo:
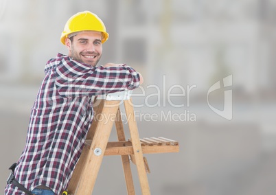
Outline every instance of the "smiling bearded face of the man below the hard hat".
<path fill-rule="evenodd" d="M 81 32 L 73 36 L 73 42 L 67 38 L 66 45 L 69 50 L 68 56 L 73 60 L 95 67 L 102 56 L 102 33 Z"/>

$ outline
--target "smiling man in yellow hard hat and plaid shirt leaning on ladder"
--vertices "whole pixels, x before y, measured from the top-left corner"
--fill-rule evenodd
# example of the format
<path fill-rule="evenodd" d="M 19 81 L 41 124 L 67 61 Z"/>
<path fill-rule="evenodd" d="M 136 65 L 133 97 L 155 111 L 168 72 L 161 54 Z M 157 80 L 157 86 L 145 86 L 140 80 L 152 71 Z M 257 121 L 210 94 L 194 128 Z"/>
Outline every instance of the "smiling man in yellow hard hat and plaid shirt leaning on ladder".
<path fill-rule="evenodd" d="M 91 12 L 79 12 L 67 21 L 60 40 L 69 54 L 58 54 L 46 64 L 27 143 L 5 194 L 23 194 L 22 186 L 32 194 L 66 190 L 93 119 L 92 95 L 132 90 L 143 82 L 123 64 L 96 67 L 107 39 L 104 23 Z"/>

